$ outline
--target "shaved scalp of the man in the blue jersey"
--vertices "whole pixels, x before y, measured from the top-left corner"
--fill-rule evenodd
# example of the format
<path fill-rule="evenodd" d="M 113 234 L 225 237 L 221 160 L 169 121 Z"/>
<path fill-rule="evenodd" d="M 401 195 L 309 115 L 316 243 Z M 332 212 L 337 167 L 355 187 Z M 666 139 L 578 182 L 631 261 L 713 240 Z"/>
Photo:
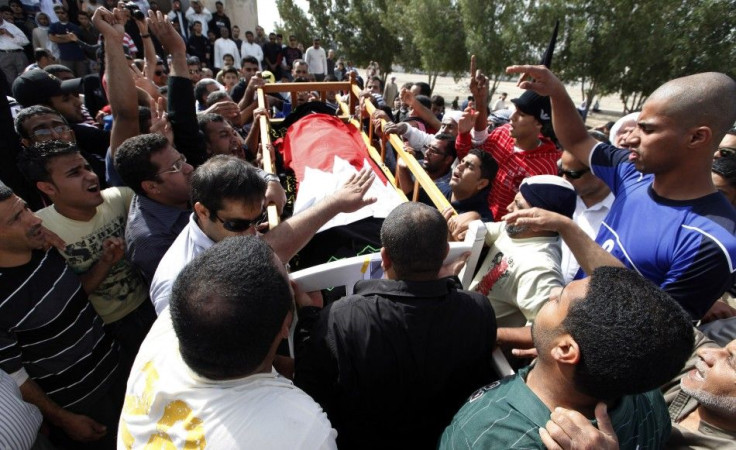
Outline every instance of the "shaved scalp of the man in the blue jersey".
<path fill-rule="evenodd" d="M 662 111 L 683 127 L 707 126 L 713 145 L 736 121 L 736 81 L 718 72 L 676 78 L 657 88 L 647 101 L 661 101 Z"/>

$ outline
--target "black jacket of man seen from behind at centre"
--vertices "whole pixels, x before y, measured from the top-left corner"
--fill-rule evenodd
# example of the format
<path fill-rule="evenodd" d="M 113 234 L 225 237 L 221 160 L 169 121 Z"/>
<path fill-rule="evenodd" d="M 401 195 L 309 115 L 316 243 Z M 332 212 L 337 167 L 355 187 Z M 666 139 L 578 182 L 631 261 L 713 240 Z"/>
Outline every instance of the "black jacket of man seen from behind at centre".
<path fill-rule="evenodd" d="M 325 410 L 340 449 L 435 448 L 491 368 L 496 319 L 455 278 L 367 280 L 299 311 L 297 386 Z"/>

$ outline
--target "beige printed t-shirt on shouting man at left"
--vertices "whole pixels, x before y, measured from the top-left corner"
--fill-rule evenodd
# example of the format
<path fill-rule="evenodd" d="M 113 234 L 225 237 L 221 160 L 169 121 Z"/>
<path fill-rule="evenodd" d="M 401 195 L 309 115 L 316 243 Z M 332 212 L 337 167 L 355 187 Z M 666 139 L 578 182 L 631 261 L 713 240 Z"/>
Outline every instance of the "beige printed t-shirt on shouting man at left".
<path fill-rule="evenodd" d="M 49 230 L 58 234 L 66 248 L 62 255 L 78 274 L 87 272 L 102 256 L 102 244 L 111 237 L 125 238 L 125 224 L 133 191 L 114 187 L 102 191 L 103 202 L 95 216 L 86 222 L 69 219 L 54 205 L 36 214 Z M 127 259 L 117 262 L 89 300 L 105 323 L 120 320 L 148 298 L 143 277 Z"/>

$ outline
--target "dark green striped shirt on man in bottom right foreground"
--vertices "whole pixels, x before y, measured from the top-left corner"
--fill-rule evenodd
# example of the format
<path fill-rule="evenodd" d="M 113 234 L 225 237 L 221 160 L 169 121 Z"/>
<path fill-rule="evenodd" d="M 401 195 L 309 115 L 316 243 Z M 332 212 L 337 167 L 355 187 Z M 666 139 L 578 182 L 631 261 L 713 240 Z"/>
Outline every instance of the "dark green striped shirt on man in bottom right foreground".
<path fill-rule="evenodd" d="M 529 371 L 525 367 L 471 395 L 445 429 L 439 448 L 545 448 L 539 429 L 551 412 L 526 385 Z M 672 429 L 659 390 L 625 396 L 608 415 L 622 450 L 661 449 Z"/>

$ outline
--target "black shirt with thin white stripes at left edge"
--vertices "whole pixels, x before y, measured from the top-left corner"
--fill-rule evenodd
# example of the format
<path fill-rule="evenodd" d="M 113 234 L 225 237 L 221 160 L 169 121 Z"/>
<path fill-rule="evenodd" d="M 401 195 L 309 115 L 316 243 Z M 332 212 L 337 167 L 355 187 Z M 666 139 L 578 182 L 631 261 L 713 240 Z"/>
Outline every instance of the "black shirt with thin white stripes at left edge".
<path fill-rule="evenodd" d="M 30 377 L 62 408 L 82 408 L 114 379 L 118 346 L 102 325 L 56 249 L 0 269 L 0 368 Z"/>

